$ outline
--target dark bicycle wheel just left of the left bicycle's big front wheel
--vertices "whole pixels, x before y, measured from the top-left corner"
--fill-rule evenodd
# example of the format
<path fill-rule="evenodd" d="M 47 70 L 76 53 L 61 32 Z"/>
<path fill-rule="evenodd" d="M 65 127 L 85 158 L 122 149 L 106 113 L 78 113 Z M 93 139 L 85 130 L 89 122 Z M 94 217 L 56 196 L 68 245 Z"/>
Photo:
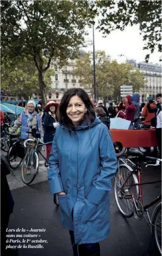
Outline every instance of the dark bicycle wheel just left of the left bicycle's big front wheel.
<path fill-rule="evenodd" d="M 23 161 L 23 158 L 20 158 L 17 154 L 16 145 L 13 144 L 8 151 L 8 163 L 11 169 L 16 169 L 20 166 Z"/>

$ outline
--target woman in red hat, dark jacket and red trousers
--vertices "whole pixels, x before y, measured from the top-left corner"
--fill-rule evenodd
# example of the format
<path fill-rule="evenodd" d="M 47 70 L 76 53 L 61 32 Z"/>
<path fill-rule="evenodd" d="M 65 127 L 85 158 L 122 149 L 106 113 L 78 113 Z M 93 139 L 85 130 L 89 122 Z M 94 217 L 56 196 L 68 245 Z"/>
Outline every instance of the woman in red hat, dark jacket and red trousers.
<path fill-rule="evenodd" d="M 47 159 L 50 156 L 51 148 L 52 148 L 52 142 L 54 139 L 55 134 L 55 128 L 59 125 L 58 123 L 58 104 L 54 101 L 50 101 L 47 106 L 45 107 L 46 115 L 44 117 L 44 142 L 51 142 L 50 144 L 47 144 Z"/>

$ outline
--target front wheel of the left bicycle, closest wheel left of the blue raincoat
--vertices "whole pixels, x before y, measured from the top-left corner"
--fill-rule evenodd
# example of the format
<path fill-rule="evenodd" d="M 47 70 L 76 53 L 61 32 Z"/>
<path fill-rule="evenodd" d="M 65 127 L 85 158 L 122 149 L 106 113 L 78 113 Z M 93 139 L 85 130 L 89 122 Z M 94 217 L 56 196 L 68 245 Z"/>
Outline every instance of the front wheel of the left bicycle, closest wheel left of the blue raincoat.
<path fill-rule="evenodd" d="M 30 184 L 36 177 L 39 168 L 38 154 L 34 149 L 28 149 L 21 167 L 21 177 L 25 184 Z"/>

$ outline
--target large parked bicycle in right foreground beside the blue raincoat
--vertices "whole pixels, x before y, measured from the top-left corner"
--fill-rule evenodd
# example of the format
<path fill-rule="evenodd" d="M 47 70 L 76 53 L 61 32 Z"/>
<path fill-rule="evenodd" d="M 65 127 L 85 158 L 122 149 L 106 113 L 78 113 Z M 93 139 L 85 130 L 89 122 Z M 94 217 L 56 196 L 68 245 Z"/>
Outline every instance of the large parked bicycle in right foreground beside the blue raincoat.
<path fill-rule="evenodd" d="M 162 182 L 160 181 L 152 181 L 141 183 L 141 164 L 138 159 L 144 154 L 136 148 L 129 149 L 129 154 L 136 156 L 137 161 L 133 163 L 129 158 L 119 158 L 118 159 L 118 170 L 114 179 L 114 194 L 117 207 L 120 213 L 126 217 L 130 218 L 133 215 L 137 220 L 143 219 L 144 213 L 147 213 L 147 219 L 145 218 L 147 224 L 151 228 L 151 232 L 154 236 L 156 246 L 159 252 L 162 254 L 162 195 L 159 195 L 152 202 L 143 205 L 142 200 L 142 187 L 144 184 L 154 184 Z M 147 166 L 159 166 L 162 159 L 146 156 L 146 159 L 156 161 L 156 164 L 147 164 Z M 152 218 L 150 219 L 148 209 L 155 205 L 159 204 L 154 209 L 152 214 Z"/>

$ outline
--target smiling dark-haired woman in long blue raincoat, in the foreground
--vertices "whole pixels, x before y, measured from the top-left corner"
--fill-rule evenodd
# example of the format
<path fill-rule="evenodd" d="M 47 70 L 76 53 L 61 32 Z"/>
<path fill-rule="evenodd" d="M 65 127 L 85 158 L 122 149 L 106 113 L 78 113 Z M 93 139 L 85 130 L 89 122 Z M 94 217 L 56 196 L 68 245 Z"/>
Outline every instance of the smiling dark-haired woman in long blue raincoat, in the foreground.
<path fill-rule="evenodd" d="M 74 256 L 100 256 L 99 242 L 109 233 L 109 191 L 117 160 L 108 128 L 81 88 L 67 90 L 61 99 L 49 164 L 51 193 L 58 195 Z"/>

